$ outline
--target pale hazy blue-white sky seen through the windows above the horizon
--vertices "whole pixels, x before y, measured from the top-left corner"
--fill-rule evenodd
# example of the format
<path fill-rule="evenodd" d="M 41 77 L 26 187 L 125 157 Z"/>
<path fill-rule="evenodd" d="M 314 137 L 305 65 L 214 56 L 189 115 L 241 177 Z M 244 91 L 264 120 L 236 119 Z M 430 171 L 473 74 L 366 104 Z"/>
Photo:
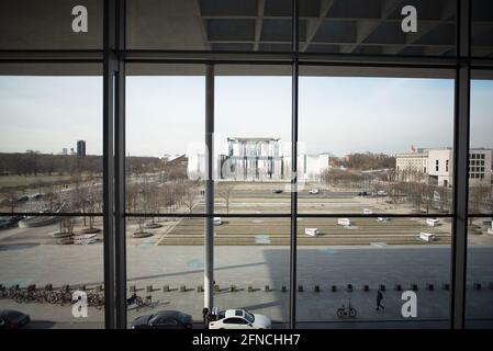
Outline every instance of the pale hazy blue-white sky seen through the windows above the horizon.
<path fill-rule="evenodd" d="M 194 152 L 203 147 L 203 77 L 128 77 L 126 151 Z M 493 148 L 493 81 L 473 81 L 471 146 Z M 395 154 L 452 146 L 450 79 L 300 77 L 300 151 Z M 0 77 L 0 152 L 58 154 L 87 141 L 102 150 L 100 77 Z M 290 77 L 216 77 L 215 147 L 227 137 L 281 138 L 289 155 Z"/>

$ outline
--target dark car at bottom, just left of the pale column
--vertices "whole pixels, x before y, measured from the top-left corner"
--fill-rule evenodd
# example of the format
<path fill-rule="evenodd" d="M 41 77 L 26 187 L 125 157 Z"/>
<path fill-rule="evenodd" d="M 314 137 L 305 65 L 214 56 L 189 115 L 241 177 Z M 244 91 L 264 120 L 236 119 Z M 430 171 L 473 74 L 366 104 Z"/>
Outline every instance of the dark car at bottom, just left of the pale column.
<path fill-rule="evenodd" d="M 160 310 L 134 319 L 132 329 L 191 329 L 192 316 L 178 310 Z"/>

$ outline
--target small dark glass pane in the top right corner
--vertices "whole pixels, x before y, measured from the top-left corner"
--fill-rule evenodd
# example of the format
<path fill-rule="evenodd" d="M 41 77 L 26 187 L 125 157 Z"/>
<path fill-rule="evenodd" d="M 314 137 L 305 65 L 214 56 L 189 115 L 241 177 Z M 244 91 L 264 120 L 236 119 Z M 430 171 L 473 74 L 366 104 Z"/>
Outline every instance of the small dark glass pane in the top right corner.
<path fill-rule="evenodd" d="M 471 1 L 471 55 L 493 57 L 493 2 Z"/>

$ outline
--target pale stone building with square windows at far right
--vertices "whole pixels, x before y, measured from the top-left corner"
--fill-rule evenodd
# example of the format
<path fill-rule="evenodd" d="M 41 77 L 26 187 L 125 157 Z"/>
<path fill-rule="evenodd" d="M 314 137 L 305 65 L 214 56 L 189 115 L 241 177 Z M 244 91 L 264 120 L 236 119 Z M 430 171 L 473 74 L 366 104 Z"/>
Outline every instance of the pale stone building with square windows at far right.
<path fill-rule="evenodd" d="M 451 148 L 414 149 L 395 156 L 401 180 L 432 181 L 439 186 L 453 184 L 453 150 Z M 492 149 L 471 148 L 469 183 L 492 184 Z"/>

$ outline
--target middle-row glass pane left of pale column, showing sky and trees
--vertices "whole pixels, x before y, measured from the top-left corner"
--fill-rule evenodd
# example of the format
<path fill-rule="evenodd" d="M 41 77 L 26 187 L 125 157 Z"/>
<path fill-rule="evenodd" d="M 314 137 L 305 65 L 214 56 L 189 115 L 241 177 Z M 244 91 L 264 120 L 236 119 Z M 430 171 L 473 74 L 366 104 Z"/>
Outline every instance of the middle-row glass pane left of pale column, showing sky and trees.
<path fill-rule="evenodd" d="M 127 212 L 202 213 L 203 66 L 149 69 L 128 65 L 126 78 Z"/>

